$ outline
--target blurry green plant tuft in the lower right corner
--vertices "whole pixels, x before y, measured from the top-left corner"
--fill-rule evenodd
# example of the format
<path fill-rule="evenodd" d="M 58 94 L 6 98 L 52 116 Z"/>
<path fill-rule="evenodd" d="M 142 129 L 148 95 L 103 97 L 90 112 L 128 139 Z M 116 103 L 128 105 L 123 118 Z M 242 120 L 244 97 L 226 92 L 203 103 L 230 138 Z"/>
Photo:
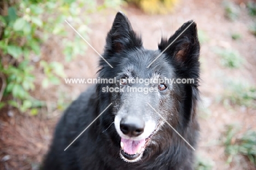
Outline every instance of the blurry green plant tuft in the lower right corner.
<path fill-rule="evenodd" d="M 245 156 L 256 165 L 256 131 L 248 130 L 243 134 L 238 134 L 239 128 L 235 125 L 228 126 L 228 130 L 223 138 L 225 154 L 228 163 L 231 163 L 236 156 Z"/>

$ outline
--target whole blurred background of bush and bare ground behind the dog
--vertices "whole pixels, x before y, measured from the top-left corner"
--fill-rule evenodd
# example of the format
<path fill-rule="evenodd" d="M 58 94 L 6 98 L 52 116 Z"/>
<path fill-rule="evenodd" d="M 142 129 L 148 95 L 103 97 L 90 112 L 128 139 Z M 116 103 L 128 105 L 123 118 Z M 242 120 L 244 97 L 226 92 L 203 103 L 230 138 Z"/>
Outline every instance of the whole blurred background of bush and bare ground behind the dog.
<path fill-rule="evenodd" d="M 0 169 L 38 169 L 63 110 L 95 78 L 118 10 L 156 50 L 195 20 L 201 43 L 195 169 L 256 169 L 256 2 L 0 1 Z"/>

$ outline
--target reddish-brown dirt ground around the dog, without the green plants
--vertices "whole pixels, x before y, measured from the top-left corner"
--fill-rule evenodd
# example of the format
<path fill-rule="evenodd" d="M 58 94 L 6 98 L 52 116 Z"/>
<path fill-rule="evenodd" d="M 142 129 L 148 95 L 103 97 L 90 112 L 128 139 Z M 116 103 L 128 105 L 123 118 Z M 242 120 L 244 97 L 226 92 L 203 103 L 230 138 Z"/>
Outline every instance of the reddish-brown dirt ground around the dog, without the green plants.
<path fill-rule="evenodd" d="M 219 139 L 226 126 L 239 124 L 241 131 L 249 128 L 256 130 L 256 110 L 240 106 L 225 107 L 218 98 L 229 89 L 224 81 L 236 79 L 246 80 L 256 85 L 256 37 L 248 26 L 253 23 L 248 16 L 243 3 L 240 4 L 240 16 L 235 21 L 224 17 L 222 1 L 189 0 L 178 4 L 176 11 L 168 15 L 147 15 L 141 10 L 129 6 L 124 7 L 124 13 L 129 17 L 133 29 L 142 34 L 145 48 L 157 49 L 161 37 L 170 37 L 184 22 L 195 20 L 199 30 L 207 35 L 207 42 L 201 44 L 201 102 L 199 107 L 199 122 L 201 127 L 200 142 L 196 153 L 203 159 L 212 160 L 212 169 L 256 169 L 244 163 L 226 163 L 224 146 Z M 113 22 L 116 11 L 104 10 L 90 17 L 89 43 L 98 52 L 103 52 L 105 37 Z M 68 28 L 68 27 L 67 27 Z M 69 28 L 68 28 L 69 29 Z M 69 30 L 71 34 L 73 30 Z M 233 40 L 231 33 L 239 33 L 242 38 Z M 48 45 L 42 46 L 43 57 L 47 61 L 61 61 L 57 40 L 53 38 Z M 86 46 L 86 43 L 84 44 Z M 240 69 L 229 69 L 220 65 L 219 56 L 214 48 L 222 47 L 236 49 L 246 62 Z M 51 49 L 51 50 L 49 50 Z M 96 77 L 99 56 L 89 46 L 85 48 L 83 56 L 77 56 L 72 62 L 63 62 L 68 78 Z M 0 112 L 0 169 L 38 169 L 42 157 L 46 153 L 51 136 L 61 112 L 52 109 L 51 104 L 57 102 L 62 92 L 66 105 L 75 99 L 87 85 L 61 84 L 41 89 L 39 80 L 42 73 L 37 73 L 36 98 L 44 99 L 47 107 L 38 116 L 18 114 L 11 107 Z M 46 116 L 45 116 L 46 115 Z"/>

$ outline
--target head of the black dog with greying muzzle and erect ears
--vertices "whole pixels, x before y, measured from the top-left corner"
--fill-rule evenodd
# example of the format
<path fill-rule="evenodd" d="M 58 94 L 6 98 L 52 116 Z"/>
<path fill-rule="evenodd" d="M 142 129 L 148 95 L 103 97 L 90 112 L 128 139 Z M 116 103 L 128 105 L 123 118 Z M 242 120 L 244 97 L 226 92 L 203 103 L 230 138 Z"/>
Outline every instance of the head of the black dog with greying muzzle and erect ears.
<path fill-rule="evenodd" d="M 103 54 L 113 68 L 101 60 L 99 75 L 119 80 L 110 85 L 119 92 L 109 92 L 108 97 L 113 103 L 121 159 L 141 160 L 147 148 L 157 145 L 154 138 L 167 122 L 180 133 L 185 131 L 193 119 L 198 93 L 199 48 L 193 21 L 186 22 L 168 40 L 162 39 L 159 50 L 152 51 L 143 48 L 142 39 L 123 13 L 115 16 Z M 178 78 L 194 82 L 178 84 Z M 166 79 L 168 83 L 162 82 Z M 172 133 L 170 130 L 166 138 L 172 138 Z"/>

